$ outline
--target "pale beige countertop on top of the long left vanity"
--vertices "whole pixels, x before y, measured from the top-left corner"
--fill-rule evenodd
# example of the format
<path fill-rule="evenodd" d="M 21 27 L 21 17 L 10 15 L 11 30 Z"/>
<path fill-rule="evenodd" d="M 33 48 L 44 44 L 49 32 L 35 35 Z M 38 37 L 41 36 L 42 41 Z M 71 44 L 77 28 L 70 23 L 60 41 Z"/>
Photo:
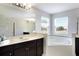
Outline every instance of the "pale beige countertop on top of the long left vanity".
<path fill-rule="evenodd" d="M 46 37 L 46 36 L 47 36 L 46 34 L 31 33 L 31 34 L 28 34 L 28 35 L 8 37 L 7 40 L 0 43 L 0 47 L 12 45 L 12 44 L 17 44 L 17 43 L 21 43 L 21 42 L 27 42 L 27 41 L 39 39 L 39 38 Z"/>

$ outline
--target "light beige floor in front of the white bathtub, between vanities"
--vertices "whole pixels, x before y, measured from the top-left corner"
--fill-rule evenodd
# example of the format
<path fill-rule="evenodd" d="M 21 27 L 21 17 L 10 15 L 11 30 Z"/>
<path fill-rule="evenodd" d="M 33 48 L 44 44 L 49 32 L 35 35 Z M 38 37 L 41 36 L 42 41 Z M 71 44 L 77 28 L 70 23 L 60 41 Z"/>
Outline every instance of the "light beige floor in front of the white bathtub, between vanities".
<path fill-rule="evenodd" d="M 73 56 L 71 46 L 48 46 L 45 56 Z"/>

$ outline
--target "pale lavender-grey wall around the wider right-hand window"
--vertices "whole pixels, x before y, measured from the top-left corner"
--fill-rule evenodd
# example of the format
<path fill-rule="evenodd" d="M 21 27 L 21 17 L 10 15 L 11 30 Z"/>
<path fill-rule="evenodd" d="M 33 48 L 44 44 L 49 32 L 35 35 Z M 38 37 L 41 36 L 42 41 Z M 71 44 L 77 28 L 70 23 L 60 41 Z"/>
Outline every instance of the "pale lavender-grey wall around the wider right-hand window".
<path fill-rule="evenodd" d="M 54 22 L 55 18 L 68 16 L 68 32 L 69 32 L 69 35 L 71 36 L 72 33 L 77 32 L 77 19 L 79 17 L 78 12 L 79 12 L 79 9 L 73 9 L 73 10 L 53 14 L 53 16 L 52 16 L 52 25 L 54 25 L 53 22 Z M 53 29 L 54 29 L 54 27 L 52 26 L 52 30 Z M 53 31 L 52 31 L 52 33 L 53 33 Z"/>

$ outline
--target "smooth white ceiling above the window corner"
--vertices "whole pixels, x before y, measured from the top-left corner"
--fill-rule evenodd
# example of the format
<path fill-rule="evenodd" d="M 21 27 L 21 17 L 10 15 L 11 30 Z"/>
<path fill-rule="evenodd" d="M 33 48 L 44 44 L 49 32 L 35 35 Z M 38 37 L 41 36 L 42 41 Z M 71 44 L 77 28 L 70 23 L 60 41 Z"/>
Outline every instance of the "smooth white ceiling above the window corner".
<path fill-rule="evenodd" d="M 79 8 L 79 3 L 36 3 L 34 7 L 44 12 L 55 14 Z"/>

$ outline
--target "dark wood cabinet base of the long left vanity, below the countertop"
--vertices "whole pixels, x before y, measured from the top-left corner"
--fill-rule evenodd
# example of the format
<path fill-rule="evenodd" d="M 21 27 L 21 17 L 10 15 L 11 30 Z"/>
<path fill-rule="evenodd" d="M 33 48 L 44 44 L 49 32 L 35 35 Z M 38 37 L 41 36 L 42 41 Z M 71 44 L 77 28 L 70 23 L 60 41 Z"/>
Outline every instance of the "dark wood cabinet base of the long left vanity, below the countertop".
<path fill-rule="evenodd" d="M 43 38 L 0 47 L 0 56 L 41 56 L 43 54 Z"/>

